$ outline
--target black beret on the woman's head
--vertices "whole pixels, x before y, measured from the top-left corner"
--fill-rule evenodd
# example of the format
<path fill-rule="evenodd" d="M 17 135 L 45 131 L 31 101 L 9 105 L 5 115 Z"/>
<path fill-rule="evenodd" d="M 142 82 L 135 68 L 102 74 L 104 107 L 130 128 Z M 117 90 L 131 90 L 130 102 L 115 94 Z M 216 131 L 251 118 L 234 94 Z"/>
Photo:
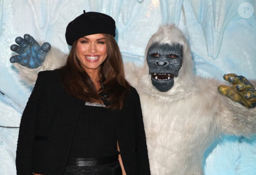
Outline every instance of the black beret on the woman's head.
<path fill-rule="evenodd" d="M 109 33 L 116 36 L 114 19 L 103 13 L 83 11 L 82 15 L 69 22 L 65 36 L 68 45 L 72 46 L 75 40 L 97 33 Z"/>

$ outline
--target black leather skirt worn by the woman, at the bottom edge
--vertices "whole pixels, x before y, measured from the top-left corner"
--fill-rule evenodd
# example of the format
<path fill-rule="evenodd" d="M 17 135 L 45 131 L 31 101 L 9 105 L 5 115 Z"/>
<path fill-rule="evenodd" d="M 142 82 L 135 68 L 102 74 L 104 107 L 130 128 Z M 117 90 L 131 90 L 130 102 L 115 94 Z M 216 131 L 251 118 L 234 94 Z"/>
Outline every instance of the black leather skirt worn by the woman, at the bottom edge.
<path fill-rule="evenodd" d="M 122 175 L 118 157 L 72 158 L 68 160 L 64 175 Z"/>

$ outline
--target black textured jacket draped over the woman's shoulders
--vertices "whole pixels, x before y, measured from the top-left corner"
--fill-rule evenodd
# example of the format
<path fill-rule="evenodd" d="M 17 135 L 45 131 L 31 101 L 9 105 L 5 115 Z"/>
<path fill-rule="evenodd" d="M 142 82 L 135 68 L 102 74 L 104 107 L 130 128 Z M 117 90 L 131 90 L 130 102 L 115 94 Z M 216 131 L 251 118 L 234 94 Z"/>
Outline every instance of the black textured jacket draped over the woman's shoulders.
<path fill-rule="evenodd" d="M 16 152 L 17 175 L 62 175 L 75 123 L 84 101 L 73 98 L 60 83 L 60 71 L 43 71 L 20 122 Z M 139 95 L 131 87 L 117 115 L 117 139 L 127 175 L 149 175 L 149 161 Z"/>

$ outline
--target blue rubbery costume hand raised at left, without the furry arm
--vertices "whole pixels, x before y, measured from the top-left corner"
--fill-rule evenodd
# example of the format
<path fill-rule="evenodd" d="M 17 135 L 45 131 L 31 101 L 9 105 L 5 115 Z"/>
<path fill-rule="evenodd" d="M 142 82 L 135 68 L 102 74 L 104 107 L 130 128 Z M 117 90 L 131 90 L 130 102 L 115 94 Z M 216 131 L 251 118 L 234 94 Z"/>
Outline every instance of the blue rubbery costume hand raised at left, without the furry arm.
<path fill-rule="evenodd" d="M 51 49 L 49 43 L 44 43 L 42 46 L 38 44 L 36 40 L 29 34 L 24 35 L 24 39 L 18 36 L 15 39 L 16 44 L 11 45 L 11 51 L 16 52 L 18 55 L 14 55 L 10 58 L 11 63 L 19 63 L 27 68 L 37 68 L 45 61 L 45 56 Z"/>

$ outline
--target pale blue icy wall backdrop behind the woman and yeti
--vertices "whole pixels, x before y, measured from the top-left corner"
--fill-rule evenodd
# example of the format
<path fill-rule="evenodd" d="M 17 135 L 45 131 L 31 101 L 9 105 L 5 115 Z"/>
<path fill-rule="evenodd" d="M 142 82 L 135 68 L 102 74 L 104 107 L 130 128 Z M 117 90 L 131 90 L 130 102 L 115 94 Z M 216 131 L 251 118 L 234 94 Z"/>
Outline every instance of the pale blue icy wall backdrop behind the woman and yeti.
<path fill-rule="evenodd" d="M 175 23 L 191 46 L 196 74 L 256 79 L 256 0 L 0 0 L 0 175 L 16 174 L 18 127 L 32 89 L 9 62 L 11 44 L 29 33 L 68 53 L 65 28 L 83 10 L 115 19 L 125 62 L 142 65 L 151 35 Z M 256 137 L 223 136 L 205 153 L 204 171 L 256 175 Z"/>

